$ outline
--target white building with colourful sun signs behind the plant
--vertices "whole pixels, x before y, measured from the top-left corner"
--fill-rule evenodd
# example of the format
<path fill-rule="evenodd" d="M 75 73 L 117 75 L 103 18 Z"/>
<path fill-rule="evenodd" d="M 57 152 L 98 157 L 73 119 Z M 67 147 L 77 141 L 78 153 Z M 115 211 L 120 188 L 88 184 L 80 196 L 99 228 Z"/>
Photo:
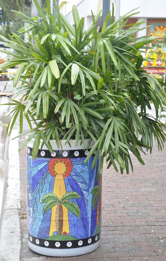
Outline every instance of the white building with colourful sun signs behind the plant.
<path fill-rule="evenodd" d="M 110 10 L 112 9 L 112 3 L 114 3 L 115 17 L 118 17 L 119 15 L 122 16 L 125 13 L 137 8 L 133 12 L 139 13 L 134 14 L 131 18 L 129 18 L 128 23 L 132 24 L 136 23 L 140 19 L 145 19 L 145 23 L 143 23 L 140 27 L 150 27 L 137 32 L 136 37 L 151 34 L 156 36 L 161 43 L 162 38 L 166 35 L 165 0 L 111 0 Z M 72 5 L 75 4 L 77 6 L 80 17 L 85 18 L 85 30 L 88 28 L 92 21 L 91 10 L 94 13 L 94 15 L 96 15 L 99 12 L 99 10 L 103 8 L 102 0 L 71 0 L 70 3 L 66 3 L 65 1 L 60 0 L 59 4 L 61 4 L 61 12 L 66 16 L 70 24 L 73 26 L 74 21 L 72 19 Z M 98 19 L 98 26 L 102 26 L 102 14 L 101 17 Z M 164 61 L 166 56 L 166 50 L 162 43 L 159 52 L 148 50 L 148 52 L 146 52 L 146 56 L 154 58 L 154 62 L 146 62 L 144 66 L 147 67 L 152 73 L 154 73 L 156 77 L 163 78 L 165 71 Z"/>

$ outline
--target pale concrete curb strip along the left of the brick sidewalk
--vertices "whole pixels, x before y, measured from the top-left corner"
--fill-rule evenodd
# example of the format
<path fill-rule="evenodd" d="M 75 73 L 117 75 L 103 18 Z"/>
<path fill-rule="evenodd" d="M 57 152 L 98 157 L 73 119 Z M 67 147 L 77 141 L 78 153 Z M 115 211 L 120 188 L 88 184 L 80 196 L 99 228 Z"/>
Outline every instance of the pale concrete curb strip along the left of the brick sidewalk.
<path fill-rule="evenodd" d="M 18 139 L 19 123 L 15 125 L 12 136 L 6 140 L 5 177 L 0 220 L 0 260 L 19 261 L 21 249 L 20 173 Z"/>

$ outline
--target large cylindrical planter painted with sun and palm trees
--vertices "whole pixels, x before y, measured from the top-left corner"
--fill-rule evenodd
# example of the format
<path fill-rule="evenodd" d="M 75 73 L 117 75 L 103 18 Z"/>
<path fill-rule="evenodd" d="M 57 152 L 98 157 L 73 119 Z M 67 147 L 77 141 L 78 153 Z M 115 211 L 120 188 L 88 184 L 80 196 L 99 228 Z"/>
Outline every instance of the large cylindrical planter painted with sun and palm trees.
<path fill-rule="evenodd" d="M 51 143 L 54 153 L 43 147 L 35 160 L 33 141 L 27 147 L 28 245 L 43 255 L 83 255 L 100 244 L 99 158 L 91 170 L 94 155 L 84 164 L 90 149 Z"/>

